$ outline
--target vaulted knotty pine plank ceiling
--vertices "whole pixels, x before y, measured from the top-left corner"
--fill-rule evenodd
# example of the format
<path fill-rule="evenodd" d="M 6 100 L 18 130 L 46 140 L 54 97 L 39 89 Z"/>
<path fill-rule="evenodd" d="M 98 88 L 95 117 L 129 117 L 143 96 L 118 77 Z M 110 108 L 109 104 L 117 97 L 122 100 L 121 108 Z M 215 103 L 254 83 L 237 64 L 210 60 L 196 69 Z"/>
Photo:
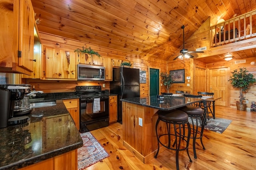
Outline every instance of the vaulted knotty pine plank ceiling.
<path fill-rule="evenodd" d="M 105 53 L 163 60 L 177 53 L 210 17 L 211 25 L 256 9 L 256 0 L 31 0 L 38 30 L 96 46 Z M 195 49 L 194 49 L 195 50 Z M 233 52 L 240 58 L 256 49 Z M 224 55 L 223 55 L 224 56 Z M 200 59 L 206 63 L 222 55 Z M 173 58 L 176 56 L 172 56 Z"/>

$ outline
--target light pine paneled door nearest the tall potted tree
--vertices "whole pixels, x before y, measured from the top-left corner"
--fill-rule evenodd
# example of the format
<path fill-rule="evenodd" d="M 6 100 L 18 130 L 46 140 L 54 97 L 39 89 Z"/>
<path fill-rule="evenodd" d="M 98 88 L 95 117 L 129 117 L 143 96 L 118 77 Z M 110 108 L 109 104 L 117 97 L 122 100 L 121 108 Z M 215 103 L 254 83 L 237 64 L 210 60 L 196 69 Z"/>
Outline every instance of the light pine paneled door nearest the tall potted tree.
<path fill-rule="evenodd" d="M 215 105 L 228 106 L 228 68 L 209 70 L 209 86 L 214 97 L 221 97 L 215 101 Z"/>

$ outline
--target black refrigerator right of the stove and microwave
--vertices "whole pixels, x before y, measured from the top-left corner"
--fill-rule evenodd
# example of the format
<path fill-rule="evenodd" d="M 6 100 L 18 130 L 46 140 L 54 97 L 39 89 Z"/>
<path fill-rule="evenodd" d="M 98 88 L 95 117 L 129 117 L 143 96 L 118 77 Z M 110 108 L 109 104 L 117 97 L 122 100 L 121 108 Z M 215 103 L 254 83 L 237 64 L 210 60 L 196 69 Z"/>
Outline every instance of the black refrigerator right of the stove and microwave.
<path fill-rule="evenodd" d="M 120 99 L 140 97 L 140 69 L 127 67 L 113 69 L 110 93 L 118 95 L 117 121 L 122 124 L 122 102 Z"/>

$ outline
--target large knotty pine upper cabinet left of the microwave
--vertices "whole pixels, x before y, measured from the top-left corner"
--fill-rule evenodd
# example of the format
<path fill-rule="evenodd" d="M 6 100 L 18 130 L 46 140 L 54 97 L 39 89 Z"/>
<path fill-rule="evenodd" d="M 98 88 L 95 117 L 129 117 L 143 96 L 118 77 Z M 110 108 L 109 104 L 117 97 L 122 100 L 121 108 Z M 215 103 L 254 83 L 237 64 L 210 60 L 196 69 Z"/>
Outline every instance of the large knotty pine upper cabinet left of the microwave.
<path fill-rule="evenodd" d="M 42 79 L 76 80 L 75 52 L 44 46 Z"/>

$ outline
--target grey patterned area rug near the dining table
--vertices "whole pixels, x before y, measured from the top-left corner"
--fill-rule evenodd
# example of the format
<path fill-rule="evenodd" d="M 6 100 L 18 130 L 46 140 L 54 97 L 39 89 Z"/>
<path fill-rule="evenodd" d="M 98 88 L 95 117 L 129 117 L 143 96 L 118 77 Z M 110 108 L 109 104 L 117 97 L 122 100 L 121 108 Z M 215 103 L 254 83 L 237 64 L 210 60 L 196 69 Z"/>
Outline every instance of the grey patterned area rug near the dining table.
<path fill-rule="evenodd" d="M 190 119 L 189 119 L 189 122 L 191 124 Z M 210 117 L 210 120 L 207 121 L 207 125 L 204 128 L 217 133 L 223 133 L 224 130 L 226 130 L 226 128 L 228 127 L 228 125 L 230 125 L 231 122 L 232 121 L 228 119 L 223 119 L 218 117 L 213 119 L 213 117 Z"/>

